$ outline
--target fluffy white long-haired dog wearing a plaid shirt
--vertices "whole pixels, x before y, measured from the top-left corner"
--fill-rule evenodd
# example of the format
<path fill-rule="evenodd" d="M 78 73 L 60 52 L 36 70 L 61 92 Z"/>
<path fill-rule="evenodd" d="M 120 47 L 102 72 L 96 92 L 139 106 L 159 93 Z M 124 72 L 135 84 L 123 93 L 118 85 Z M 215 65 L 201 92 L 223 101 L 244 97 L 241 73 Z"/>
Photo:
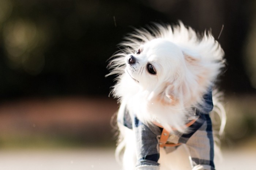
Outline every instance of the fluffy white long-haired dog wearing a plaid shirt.
<path fill-rule="evenodd" d="M 225 110 L 215 82 L 224 52 L 211 32 L 200 35 L 181 21 L 135 29 L 111 58 L 112 95 L 120 108 L 116 149 L 124 170 L 212 170 L 209 113 Z M 121 154 L 123 153 L 123 154 Z"/>

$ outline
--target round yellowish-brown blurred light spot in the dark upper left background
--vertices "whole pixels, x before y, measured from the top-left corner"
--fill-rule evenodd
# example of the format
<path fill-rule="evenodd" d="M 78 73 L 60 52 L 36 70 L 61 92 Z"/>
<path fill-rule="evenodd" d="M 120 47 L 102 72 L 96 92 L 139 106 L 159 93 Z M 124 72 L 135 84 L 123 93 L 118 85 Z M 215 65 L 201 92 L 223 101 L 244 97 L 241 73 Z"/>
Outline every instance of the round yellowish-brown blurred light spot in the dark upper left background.
<path fill-rule="evenodd" d="M 37 25 L 22 18 L 8 21 L 3 29 L 3 39 L 10 66 L 23 68 L 29 74 L 39 74 L 44 68 L 42 39 Z"/>

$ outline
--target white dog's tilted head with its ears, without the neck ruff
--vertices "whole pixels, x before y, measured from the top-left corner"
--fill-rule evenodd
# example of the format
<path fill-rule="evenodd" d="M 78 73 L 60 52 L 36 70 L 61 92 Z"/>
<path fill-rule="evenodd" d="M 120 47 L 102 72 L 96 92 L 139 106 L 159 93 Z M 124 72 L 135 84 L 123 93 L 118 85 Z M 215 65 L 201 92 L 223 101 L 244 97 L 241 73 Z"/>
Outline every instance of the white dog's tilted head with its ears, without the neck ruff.
<path fill-rule="evenodd" d="M 158 38 L 127 55 L 125 71 L 143 90 L 150 92 L 149 100 L 175 104 L 186 90 L 188 68 L 199 60 L 199 56 L 188 55 L 171 41 Z"/>

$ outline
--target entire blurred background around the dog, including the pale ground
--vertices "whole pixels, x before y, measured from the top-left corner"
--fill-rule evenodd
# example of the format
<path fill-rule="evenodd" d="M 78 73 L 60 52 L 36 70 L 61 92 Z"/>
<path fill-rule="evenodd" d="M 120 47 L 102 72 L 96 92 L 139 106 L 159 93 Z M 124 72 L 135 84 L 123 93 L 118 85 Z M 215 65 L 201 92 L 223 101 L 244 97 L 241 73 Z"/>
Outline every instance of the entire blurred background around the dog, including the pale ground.
<path fill-rule="evenodd" d="M 255 11 L 254 0 L 0 0 L 0 169 L 117 170 L 107 60 L 134 27 L 178 20 L 225 51 L 219 169 L 255 167 Z"/>

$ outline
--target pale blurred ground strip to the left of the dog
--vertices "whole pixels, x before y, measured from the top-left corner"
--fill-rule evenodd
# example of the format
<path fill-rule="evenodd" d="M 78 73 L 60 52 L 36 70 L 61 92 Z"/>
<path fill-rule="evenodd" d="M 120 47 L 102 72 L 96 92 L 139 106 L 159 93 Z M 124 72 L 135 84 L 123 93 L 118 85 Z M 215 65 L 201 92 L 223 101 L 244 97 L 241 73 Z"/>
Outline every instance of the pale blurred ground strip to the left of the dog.
<path fill-rule="evenodd" d="M 117 170 L 114 149 L 5 150 L 1 170 Z"/>

